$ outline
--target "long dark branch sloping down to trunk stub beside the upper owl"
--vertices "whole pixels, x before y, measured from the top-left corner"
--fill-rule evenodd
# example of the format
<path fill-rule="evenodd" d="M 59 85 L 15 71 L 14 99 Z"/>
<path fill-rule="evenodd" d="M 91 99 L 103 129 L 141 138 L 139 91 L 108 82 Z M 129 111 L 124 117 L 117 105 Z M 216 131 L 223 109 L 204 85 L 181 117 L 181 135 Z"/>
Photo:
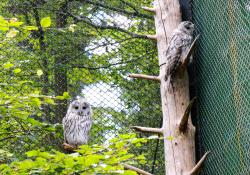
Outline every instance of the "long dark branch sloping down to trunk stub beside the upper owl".
<path fill-rule="evenodd" d="M 61 12 L 62 14 L 65 14 L 63 12 Z M 79 16 L 75 16 L 73 15 L 72 13 L 70 12 L 67 12 L 67 14 L 72 17 L 76 22 L 84 22 L 94 28 L 97 28 L 97 29 L 100 29 L 100 30 L 117 30 L 119 32 L 123 32 L 123 33 L 126 33 L 128 35 L 130 35 L 131 37 L 133 38 L 141 38 L 141 39 L 152 39 L 150 38 L 151 35 L 140 35 L 140 34 L 136 34 L 136 33 L 133 33 L 133 32 L 130 32 L 128 30 L 125 30 L 121 27 L 118 27 L 118 26 L 110 26 L 110 25 L 97 25 L 95 23 L 93 23 L 90 19 L 88 18 L 84 18 L 84 17 L 79 17 Z"/>

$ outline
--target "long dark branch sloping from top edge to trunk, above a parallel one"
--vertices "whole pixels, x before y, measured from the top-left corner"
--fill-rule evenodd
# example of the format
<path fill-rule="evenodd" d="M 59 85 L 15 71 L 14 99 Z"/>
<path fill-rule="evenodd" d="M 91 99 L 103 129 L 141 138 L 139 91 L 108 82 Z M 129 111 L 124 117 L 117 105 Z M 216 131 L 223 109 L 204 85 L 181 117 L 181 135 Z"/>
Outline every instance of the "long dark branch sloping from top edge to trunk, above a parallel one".
<path fill-rule="evenodd" d="M 109 6 L 109 5 L 106 5 L 106 4 L 98 2 L 98 1 L 93 1 L 93 0 L 79 0 L 79 1 L 86 2 L 88 4 L 92 4 L 92 5 L 95 5 L 97 7 L 102 7 L 104 9 L 112 10 L 112 11 L 122 13 L 122 14 L 125 14 L 125 15 L 137 16 L 137 17 L 147 18 L 147 19 L 153 19 L 153 16 L 148 15 L 148 14 L 143 14 L 143 13 L 140 13 L 138 11 L 129 12 L 129 11 L 126 11 L 124 9 L 117 8 L 117 7 L 114 7 L 114 6 Z M 131 5 L 129 5 L 129 6 L 131 7 Z M 133 9 L 135 9 L 135 7 L 133 7 Z"/>

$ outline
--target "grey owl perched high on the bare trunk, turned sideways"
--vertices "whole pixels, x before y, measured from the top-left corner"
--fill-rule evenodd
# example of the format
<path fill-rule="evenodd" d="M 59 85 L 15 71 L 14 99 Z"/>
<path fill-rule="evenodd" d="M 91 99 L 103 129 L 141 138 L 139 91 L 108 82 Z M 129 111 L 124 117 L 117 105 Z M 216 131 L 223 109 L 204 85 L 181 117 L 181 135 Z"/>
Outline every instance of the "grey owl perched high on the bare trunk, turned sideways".
<path fill-rule="evenodd" d="M 165 80 L 173 76 L 181 64 L 192 44 L 194 24 L 189 21 L 181 22 L 173 31 L 169 38 L 168 48 L 166 51 L 166 72 Z"/>

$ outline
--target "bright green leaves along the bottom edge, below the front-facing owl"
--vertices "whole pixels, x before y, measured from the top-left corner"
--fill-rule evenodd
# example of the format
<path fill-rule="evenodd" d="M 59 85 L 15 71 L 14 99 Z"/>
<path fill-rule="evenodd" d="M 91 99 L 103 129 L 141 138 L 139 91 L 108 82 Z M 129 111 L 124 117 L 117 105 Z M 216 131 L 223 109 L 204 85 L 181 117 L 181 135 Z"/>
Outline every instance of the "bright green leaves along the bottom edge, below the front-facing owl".
<path fill-rule="evenodd" d="M 105 145 L 82 145 L 76 153 L 64 154 L 58 151 L 33 150 L 26 153 L 27 159 L 0 165 L 4 174 L 129 174 L 124 163 L 144 163 L 144 155 L 130 152 L 133 145 L 146 143 L 146 139 L 136 138 L 135 134 L 124 134 L 110 140 Z M 9 153 L 0 150 L 11 156 Z M 1 158 L 1 157 L 0 157 Z M 1 159 L 0 159 L 1 160 Z"/>

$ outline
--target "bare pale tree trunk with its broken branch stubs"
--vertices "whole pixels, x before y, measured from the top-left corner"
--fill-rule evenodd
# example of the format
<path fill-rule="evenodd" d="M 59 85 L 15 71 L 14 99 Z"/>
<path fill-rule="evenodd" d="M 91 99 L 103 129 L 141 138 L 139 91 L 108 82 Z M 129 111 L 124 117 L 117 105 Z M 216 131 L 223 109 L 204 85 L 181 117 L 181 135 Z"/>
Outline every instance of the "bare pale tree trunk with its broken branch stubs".
<path fill-rule="evenodd" d="M 196 175 L 209 152 L 195 164 L 195 127 L 192 124 L 190 111 L 195 98 L 190 102 L 189 79 L 187 73 L 188 57 L 192 54 L 197 36 L 192 43 L 180 71 L 176 73 L 171 84 L 165 78 L 168 65 L 166 50 L 168 38 L 181 22 L 179 0 L 156 0 L 155 7 L 143 7 L 155 14 L 156 35 L 160 75 L 151 76 L 131 74 L 131 78 L 157 80 L 161 82 L 161 102 L 163 114 L 162 128 L 133 126 L 137 131 L 163 134 L 166 175 Z M 173 138 L 173 139 L 169 139 Z"/>

